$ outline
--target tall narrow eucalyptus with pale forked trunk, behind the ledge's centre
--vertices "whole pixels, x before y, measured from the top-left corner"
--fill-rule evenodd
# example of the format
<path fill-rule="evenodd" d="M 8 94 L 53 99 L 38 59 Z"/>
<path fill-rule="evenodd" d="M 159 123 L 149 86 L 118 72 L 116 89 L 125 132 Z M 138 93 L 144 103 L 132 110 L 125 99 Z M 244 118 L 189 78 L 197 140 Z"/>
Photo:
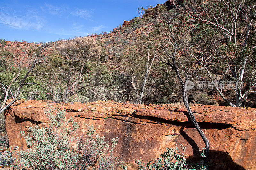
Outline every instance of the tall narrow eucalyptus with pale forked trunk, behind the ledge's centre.
<path fill-rule="evenodd" d="M 147 83 L 149 73 L 151 71 L 152 65 L 155 61 L 156 51 L 157 51 L 157 44 L 156 44 L 156 33 L 155 33 L 155 25 L 159 22 L 161 14 L 166 10 L 166 8 L 161 5 L 159 8 L 153 8 L 150 6 L 148 9 L 143 7 L 138 8 L 138 13 L 140 14 L 140 24 L 142 26 L 141 35 L 139 38 L 139 42 L 136 46 L 137 56 L 138 58 L 131 58 L 128 59 L 129 62 L 132 64 L 132 72 L 131 72 L 131 79 L 129 80 L 132 84 L 132 87 L 135 91 L 136 98 L 138 98 L 138 102 L 141 104 L 145 85 Z M 130 55 L 131 56 L 131 55 Z M 139 61 L 136 61 L 135 60 Z M 133 60 L 133 61 L 132 61 Z M 141 85 L 135 85 L 135 82 L 140 82 L 140 77 L 138 77 L 139 72 L 144 72 L 142 76 Z M 140 88 L 140 90 L 138 89 Z"/>

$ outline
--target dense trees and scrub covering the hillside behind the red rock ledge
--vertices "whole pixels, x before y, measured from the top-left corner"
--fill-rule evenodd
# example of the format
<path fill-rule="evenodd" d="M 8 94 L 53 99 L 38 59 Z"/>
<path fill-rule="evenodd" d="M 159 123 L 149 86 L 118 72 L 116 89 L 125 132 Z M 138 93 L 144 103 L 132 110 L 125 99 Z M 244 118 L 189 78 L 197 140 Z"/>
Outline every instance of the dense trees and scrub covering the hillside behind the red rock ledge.
<path fill-rule="evenodd" d="M 139 8 L 140 18 L 135 18 L 125 27 L 115 28 L 109 34 L 104 32 L 102 35 L 49 44 L 55 50 L 50 55 L 40 57 L 41 63 L 48 62 L 36 64 L 19 97 L 58 102 L 108 99 L 145 104 L 180 102 L 181 87 L 177 83 L 176 73 L 157 60 L 166 59 L 164 48 L 173 48 L 172 43 L 168 44 L 170 26 L 174 36 L 179 37 L 177 64 L 184 73 L 182 77 L 203 67 L 204 63 L 201 62 L 204 59 L 209 58 L 207 62 L 211 60 L 205 70 L 191 77 L 195 87 L 188 91 L 190 102 L 253 107 L 256 83 L 255 9 L 251 8 L 246 14 L 238 12 L 241 17 L 236 19 L 235 41 L 233 34 L 229 34 L 234 24 L 228 11 L 221 5 L 214 5 L 221 2 L 211 1 L 200 6 L 193 1 L 172 8 L 161 4 L 155 8 Z M 190 3 L 194 3 L 194 8 L 190 7 Z M 242 3 L 253 6 L 249 0 Z M 199 18 L 194 16 L 194 12 L 204 5 L 210 11 L 209 15 L 201 10 Z M 235 5 L 231 4 L 234 10 Z M 225 15 L 222 17 L 223 12 Z M 225 21 L 221 28 L 216 26 L 214 16 L 219 17 L 217 24 L 220 19 Z M 244 16 L 247 16 L 246 22 Z M 252 26 L 248 30 L 246 23 L 250 18 Z M 249 31 L 248 36 L 246 30 Z M 4 43 L 1 40 L 1 44 Z M 12 78 L 18 74 L 17 64 L 22 69 L 9 88 L 8 99 L 15 96 L 20 79 L 38 51 L 28 49 L 25 56 L 28 59 L 19 63 L 15 55 L 1 48 L 1 102 L 6 94 L 4 88 L 7 89 Z"/>

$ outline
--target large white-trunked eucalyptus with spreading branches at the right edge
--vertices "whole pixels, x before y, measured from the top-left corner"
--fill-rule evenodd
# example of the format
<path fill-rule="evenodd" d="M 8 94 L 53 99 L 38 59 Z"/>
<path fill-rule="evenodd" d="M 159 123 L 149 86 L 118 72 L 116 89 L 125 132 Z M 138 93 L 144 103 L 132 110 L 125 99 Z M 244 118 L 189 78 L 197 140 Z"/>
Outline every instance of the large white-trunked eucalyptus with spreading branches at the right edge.
<path fill-rule="evenodd" d="M 210 25 L 221 33 L 221 43 L 216 52 L 215 70 L 226 79 L 234 81 L 236 102 L 228 100 L 223 89 L 216 84 L 216 72 L 205 69 L 208 80 L 220 96 L 233 107 L 246 104 L 248 95 L 255 92 L 255 22 L 256 1 L 254 0 L 190 0 L 190 7 L 177 5 L 169 0 L 189 18 Z M 204 51 L 201 51 L 204 53 Z M 207 55 L 206 51 L 205 55 Z M 243 83 L 247 88 L 243 88 Z"/>

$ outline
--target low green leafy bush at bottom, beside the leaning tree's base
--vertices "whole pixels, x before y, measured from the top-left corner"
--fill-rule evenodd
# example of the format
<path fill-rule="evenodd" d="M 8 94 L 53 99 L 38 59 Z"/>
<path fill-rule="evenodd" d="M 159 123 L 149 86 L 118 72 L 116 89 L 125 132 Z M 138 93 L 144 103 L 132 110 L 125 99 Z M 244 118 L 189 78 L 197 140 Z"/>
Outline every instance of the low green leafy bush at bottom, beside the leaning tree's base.
<path fill-rule="evenodd" d="M 181 145 L 185 152 L 186 147 Z M 141 159 L 135 159 L 135 163 L 139 166 L 139 170 L 207 170 L 209 168 L 207 162 L 203 160 L 196 165 L 190 165 L 176 145 L 174 148 L 167 148 L 167 151 L 160 155 L 161 158 L 148 161 L 142 165 Z M 204 158 L 204 151 L 201 154 Z"/>

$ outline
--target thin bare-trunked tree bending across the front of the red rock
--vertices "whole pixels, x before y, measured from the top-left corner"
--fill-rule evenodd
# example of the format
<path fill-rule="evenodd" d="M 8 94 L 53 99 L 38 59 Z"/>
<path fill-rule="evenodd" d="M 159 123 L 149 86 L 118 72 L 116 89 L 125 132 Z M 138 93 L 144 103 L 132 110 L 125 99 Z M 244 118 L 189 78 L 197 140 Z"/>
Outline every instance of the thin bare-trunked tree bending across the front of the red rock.
<path fill-rule="evenodd" d="M 184 19 L 184 16 L 181 16 L 180 20 L 182 19 Z M 199 63 L 202 63 L 203 65 L 198 69 L 190 70 L 190 71 L 187 71 L 186 69 L 185 70 L 182 69 L 185 66 L 184 66 L 184 60 L 180 56 L 180 51 L 182 51 L 182 46 L 185 43 L 184 41 L 187 40 L 186 39 L 187 37 L 186 35 L 188 34 L 187 26 L 184 25 L 184 22 L 171 23 L 168 20 L 165 23 L 161 23 L 160 26 L 161 26 L 160 28 L 162 29 L 161 32 L 164 34 L 165 39 L 163 39 L 163 41 L 159 43 L 161 50 L 160 50 L 160 53 L 158 53 L 158 55 L 156 56 L 156 58 L 159 61 L 170 66 L 176 72 L 178 80 L 181 84 L 182 98 L 183 98 L 184 105 L 188 111 L 188 116 L 205 143 L 205 148 L 206 148 L 205 160 L 207 160 L 209 157 L 210 143 L 209 143 L 209 140 L 204 135 L 204 132 L 198 125 L 196 118 L 192 112 L 192 109 L 189 105 L 186 83 L 187 81 L 191 80 L 193 76 L 198 76 L 197 73 L 204 70 L 205 67 L 209 63 L 211 63 L 214 55 L 208 56 L 208 57 L 201 57 L 200 58 L 201 62 Z M 194 56 L 195 60 L 198 61 L 198 58 L 196 57 L 197 56 Z"/>

